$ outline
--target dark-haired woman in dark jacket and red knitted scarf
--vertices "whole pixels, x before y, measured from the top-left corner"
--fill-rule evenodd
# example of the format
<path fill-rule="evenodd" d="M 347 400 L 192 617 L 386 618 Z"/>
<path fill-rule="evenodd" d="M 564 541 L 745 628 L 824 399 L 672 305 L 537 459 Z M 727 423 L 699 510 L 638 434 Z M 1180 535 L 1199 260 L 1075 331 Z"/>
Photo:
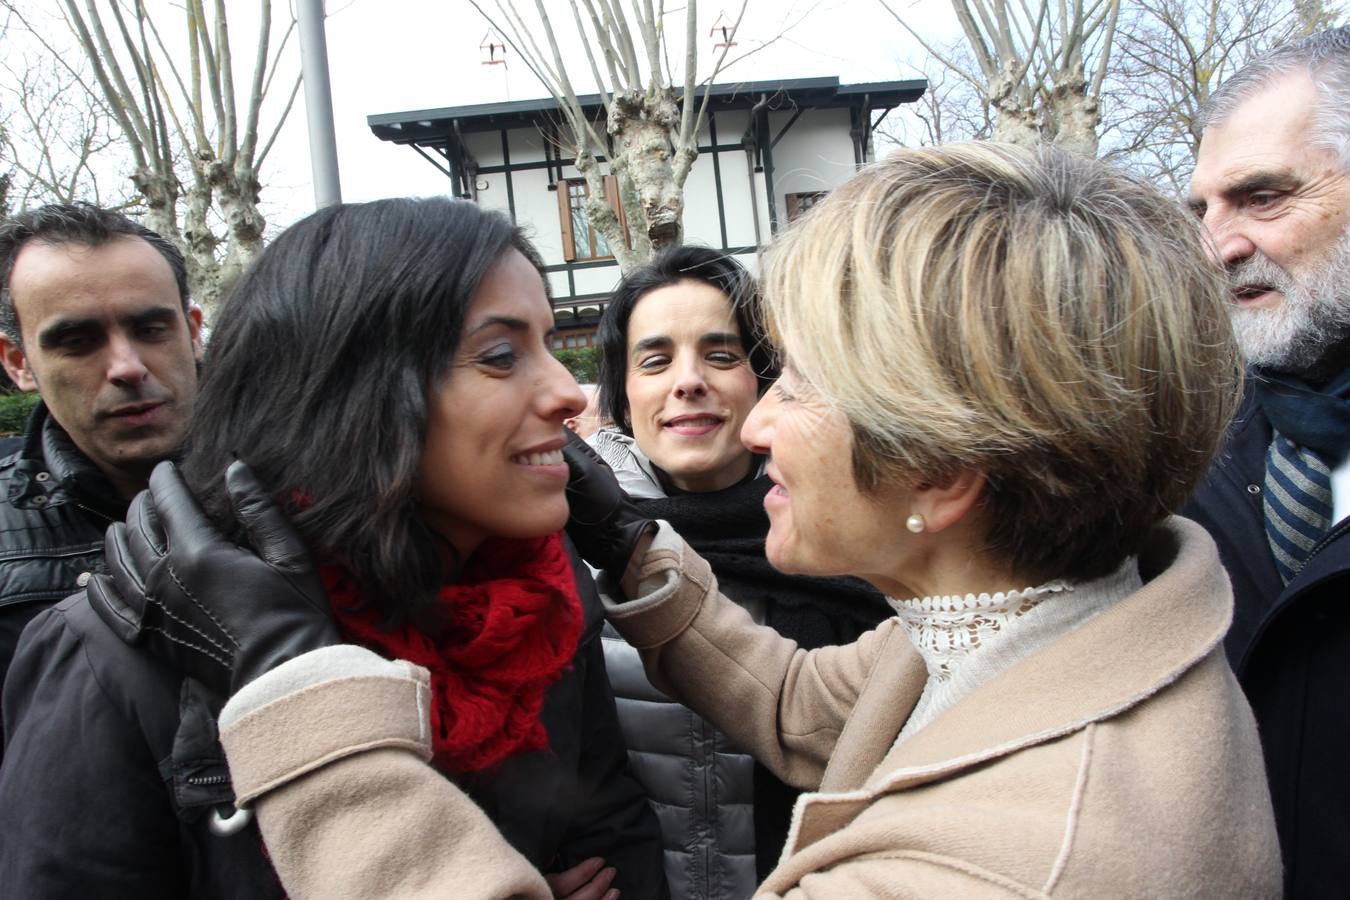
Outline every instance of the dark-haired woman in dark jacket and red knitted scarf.
<path fill-rule="evenodd" d="M 432 764 L 477 804 L 466 822 L 486 814 L 552 873 L 556 896 L 664 896 L 657 824 L 626 770 L 605 673 L 599 599 L 562 533 L 563 420 L 585 399 L 549 352 L 543 264 L 521 231 L 467 201 L 332 206 L 282 232 L 217 321 L 182 463 L 207 518 L 235 544 L 263 548 L 266 534 L 236 522 L 251 503 L 240 486 L 277 502 L 313 555 L 308 578 L 323 583 L 336 636 L 431 672 Z M 236 459 L 247 467 L 231 470 L 227 488 L 220 474 Z M 288 656 L 301 630 L 266 654 Z M 136 714 L 89 714 L 88 746 L 103 753 L 134 739 L 100 733 L 128 721 L 182 715 L 177 753 L 189 716 L 144 708 L 176 698 L 177 681 L 161 685 L 167 668 L 146 673 L 147 657 L 111 644 L 119 658 L 99 680 L 124 685 Z M 227 631 L 200 657 L 232 660 L 223 663 L 228 685 L 198 680 L 216 690 L 248 681 L 251 663 L 232 656 L 235 644 Z M 165 690 L 139 690 L 128 672 Z M 204 729 L 192 749 L 215 760 L 193 775 L 223 783 L 211 806 L 244 806 L 230 791 L 213 714 L 192 718 Z M 202 820 L 197 838 L 177 838 L 166 785 L 153 768 L 136 772 L 151 760 L 115 762 L 74 766 L 73 780 L 104 781 L 54 796 L 108 804 L 109 816 L 135 811 L 135 827 L 88 850 L 117 854 L 136 896 L 281 896 L 255 827 L 227 843 L 205 837 Z M 132 795 L 147 780 L 155 789 Z M 97 811 L 70 810 L 81 815 Z M 473 831 L 466 823 L 456 841 L 471 843 Z M 196 850 L 188 857 L 182 846 Z M 65 847 L 65 868 L 85 850 Z M 165 860 L 177 860 L 171 872 Z M 90 895 L 123 896 L 88 877 Z M 8 887 L 45 896 L 20 885 L 42 887 L 22 876 Z M 378 892 L 377 880 L 364 896 Z"/>

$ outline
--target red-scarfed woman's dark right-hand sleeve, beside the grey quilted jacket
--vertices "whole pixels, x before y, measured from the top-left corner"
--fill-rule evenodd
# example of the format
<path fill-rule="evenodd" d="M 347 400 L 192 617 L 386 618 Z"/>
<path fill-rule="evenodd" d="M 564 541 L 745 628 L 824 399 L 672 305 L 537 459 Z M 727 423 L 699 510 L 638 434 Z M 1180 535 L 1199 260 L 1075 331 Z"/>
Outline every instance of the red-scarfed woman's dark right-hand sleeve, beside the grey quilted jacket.
<path fill-rule="evenodd" d="M 563 841 L 563 868 L 589 857 L 614 866 L 624 897 L 664 897 L 666 874 L 656 814 L 628 770 L 628 748 L 618 727 L 614 695 L 597 637 L 583 658 L 583 718 L 576 808 Z"/>

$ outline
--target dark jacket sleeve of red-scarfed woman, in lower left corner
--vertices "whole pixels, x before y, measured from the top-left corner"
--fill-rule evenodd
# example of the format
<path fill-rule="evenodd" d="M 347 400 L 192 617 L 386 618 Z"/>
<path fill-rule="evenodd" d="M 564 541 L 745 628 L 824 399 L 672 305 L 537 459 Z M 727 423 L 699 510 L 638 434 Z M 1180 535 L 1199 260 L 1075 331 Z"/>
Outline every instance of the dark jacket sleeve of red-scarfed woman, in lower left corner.
<path fill-rule="evenodd" d="M 11 897 L 182 896 L 158 761 L 135 710 L 100 684 L 70 604 L 32 621 L 5 680 L 0 884 Z"/>

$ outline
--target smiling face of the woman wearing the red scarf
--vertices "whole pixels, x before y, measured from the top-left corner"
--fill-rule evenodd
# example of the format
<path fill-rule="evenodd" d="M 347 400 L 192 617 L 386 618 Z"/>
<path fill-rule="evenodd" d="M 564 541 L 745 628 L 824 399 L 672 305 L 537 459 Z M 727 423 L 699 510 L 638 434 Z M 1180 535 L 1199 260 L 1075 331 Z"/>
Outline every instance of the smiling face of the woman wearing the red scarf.
<path fill-rule="evenodd" d="M 552 332 L 539 271 L 505 251 L 427 398 L 418 510 L 460 559 L 487 537 L 541 537 L 567 522 L 563 420 L 586 398 L 549 352 Z"/>

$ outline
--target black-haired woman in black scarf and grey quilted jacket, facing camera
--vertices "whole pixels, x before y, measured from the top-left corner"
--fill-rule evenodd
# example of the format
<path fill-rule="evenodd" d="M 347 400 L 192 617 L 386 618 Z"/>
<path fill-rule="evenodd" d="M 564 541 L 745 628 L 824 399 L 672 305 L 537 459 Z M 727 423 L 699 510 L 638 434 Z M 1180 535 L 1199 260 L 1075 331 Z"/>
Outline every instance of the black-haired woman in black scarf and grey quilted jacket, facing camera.
<path fill-rule="evenodd" d="M 849 644 L 890 614 L 882 595 L 853 579 L 784 575 L 764 556 L 771 482 L 740 439 L 779 374 L 757 304 L 753 277 L 706 247 L 664 250 L 625 275 L 598 332 L 599 406 L 614 425 L 587 443 L 756 621 L 805 648 Z M 751 896 L 778 861 L 798 791 L 656 690 L 613 626 L 605 664 L 633 773 L 662 822 L 671 895 Z"/>

